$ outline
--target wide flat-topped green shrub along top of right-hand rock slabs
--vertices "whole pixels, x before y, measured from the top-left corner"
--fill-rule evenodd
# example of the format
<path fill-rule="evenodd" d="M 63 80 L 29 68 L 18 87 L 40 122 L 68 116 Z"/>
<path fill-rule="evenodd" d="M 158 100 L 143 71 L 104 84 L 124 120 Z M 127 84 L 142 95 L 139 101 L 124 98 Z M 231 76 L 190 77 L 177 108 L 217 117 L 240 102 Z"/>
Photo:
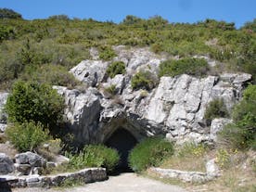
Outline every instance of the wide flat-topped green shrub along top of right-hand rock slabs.
<path fill-rule="evenodd" d="M 189 74 L 202 76 L 207 73 L 208 63 L 204 58 L 182 58 L 179 60 L 166 60 L 160 63 L 159 76 L 175 76 Z"/>

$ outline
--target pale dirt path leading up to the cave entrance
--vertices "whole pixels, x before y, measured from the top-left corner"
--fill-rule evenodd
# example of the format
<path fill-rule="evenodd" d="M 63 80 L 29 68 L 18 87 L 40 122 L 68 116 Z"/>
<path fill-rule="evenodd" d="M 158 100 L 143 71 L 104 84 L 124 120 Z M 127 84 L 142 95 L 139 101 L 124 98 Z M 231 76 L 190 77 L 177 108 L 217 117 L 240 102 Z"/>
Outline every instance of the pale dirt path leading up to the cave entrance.
<path fill-rule="evenodd" d="M 13 189 L 13 192 L 186 192 L 179 186 L 171 186 L 159 181 L 137 176 L 134 173 L 122 173 L 110 176 L 109 180 L 73 188 L 45 189 L 23 188 Z"/>

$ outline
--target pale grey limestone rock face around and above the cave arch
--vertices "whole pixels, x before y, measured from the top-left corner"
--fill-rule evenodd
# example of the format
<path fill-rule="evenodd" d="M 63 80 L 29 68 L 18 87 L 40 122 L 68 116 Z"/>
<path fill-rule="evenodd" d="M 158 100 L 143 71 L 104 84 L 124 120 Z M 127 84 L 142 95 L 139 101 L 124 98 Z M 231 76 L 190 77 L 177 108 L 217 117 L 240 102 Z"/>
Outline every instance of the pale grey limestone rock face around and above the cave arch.
<path fill-rule="evenodd" d="M 115 48 L 118 57 L 126 64 L 126 73 L 106 78 L 110 62 L 84 60 L 70 70 L 89 88 L 81 92 L 55 87 L 65 96 L 66 117 L 77 141 L 84 143 L 105 142 L 122 127 L 139 140 L 145 136 L 165 134 L 176 141 L 193 140 L 211 142 L 211 129 L 206 126 L 204 112 L 214 98 L 224 98 L 227 109 L 232 109 L 242 95 L 244 84 L 250 81 L 246 73 L 224 73 L 219 76 L 196 78 L 186 74 L 161 77 L 153 90 L 134 91 L 131 78 L 138 70 L 150 70 L 157 77 L 160 61 L 147 49 L 128 50 Z M 116 96 L 104 90 L 116 85 Z"/>

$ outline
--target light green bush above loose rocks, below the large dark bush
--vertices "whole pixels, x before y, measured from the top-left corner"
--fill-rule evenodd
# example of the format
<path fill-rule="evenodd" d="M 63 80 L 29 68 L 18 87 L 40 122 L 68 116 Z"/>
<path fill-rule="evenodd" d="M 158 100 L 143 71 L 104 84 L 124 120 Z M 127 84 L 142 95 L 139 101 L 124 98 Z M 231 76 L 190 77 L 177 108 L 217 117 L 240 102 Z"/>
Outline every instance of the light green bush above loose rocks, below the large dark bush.
<path fill-rule="evenodd" d="M 49 138 L 49 132 L 40 122 L 23 122 L 9 125 L 7 138 L 20 151 L 32 151 Z"/>

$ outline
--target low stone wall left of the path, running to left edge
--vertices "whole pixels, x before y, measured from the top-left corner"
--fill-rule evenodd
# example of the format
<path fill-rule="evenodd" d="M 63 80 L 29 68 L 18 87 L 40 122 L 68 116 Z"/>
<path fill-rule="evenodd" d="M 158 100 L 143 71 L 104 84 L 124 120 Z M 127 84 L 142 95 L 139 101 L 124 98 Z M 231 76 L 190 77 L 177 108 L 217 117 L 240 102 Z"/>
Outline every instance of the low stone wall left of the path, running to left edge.
<path fill-rule="evenodd" d="M 59 173 L 56 175 L 40 176 L 10 176 L 0 175 L 0 188 L 3 187 L 49 187 L 60 186 L 66 180 L 80 180 L 84 184 L 93 183 L 96 181 L 103 181 L 108 179 L 106 169 L 104 168 L 89 168 L 83 169 L 75 173 Z"/>

